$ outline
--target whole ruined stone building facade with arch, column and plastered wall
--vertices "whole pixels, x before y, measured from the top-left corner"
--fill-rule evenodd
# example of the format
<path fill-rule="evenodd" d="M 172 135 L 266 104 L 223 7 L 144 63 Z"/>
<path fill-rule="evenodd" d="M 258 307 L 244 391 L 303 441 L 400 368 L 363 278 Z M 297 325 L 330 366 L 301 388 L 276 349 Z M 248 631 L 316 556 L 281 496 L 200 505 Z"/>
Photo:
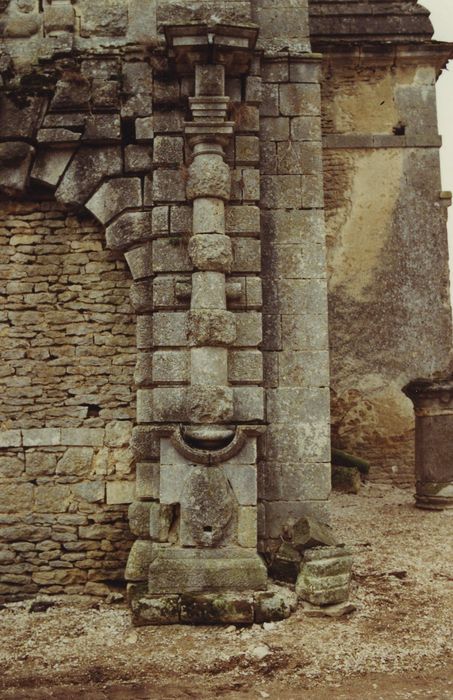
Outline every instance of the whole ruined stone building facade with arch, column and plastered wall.
<path fill-rule="evenodd" d="M 105 596 L 128 559 L 168 619 L 200 570 L 257 614 L 257 552 L 329 519 L 331 406 L 335 447 L 413 478 L 450 46 L 415 2 L 0 11 L 0 596 Z"/>

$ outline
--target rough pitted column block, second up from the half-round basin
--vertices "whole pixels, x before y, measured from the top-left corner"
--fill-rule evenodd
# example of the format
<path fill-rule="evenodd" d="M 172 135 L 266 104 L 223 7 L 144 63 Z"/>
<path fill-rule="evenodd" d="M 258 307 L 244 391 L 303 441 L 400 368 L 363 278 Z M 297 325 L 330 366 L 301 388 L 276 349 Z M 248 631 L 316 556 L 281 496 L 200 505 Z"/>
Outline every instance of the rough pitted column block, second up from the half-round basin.
<path fill-rule="evenodd" d="M 187 320 L 189 345 L 231 345 L 236 339 L 236 319 L 231 311 L 190 311 Z"/>

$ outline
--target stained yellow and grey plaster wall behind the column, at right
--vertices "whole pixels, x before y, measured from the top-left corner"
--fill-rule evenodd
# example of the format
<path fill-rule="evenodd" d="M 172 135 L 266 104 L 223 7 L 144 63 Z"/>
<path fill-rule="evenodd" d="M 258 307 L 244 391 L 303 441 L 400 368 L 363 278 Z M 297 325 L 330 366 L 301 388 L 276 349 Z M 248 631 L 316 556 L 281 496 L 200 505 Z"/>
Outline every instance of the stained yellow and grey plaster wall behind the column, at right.
<path fill-rule="evenodd" d="M 401 388 L 451 347 L 434 70 L 330 66 L 323 121 L 333 445 L 411 484 Z"/>

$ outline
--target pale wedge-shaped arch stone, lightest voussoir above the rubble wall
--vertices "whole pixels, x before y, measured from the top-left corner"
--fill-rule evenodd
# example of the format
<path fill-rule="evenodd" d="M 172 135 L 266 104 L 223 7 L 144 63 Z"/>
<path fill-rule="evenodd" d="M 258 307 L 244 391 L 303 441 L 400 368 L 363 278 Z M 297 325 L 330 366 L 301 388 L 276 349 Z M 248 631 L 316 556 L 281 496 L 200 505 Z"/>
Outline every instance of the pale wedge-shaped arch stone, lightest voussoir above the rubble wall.
<path fill-rule="evenodd" d="M 103 182 L 85 207 L 101 222 L 107 224 L 124 209 L 142 206 L 142 185 L 138 177 L 118 177 Z"/>

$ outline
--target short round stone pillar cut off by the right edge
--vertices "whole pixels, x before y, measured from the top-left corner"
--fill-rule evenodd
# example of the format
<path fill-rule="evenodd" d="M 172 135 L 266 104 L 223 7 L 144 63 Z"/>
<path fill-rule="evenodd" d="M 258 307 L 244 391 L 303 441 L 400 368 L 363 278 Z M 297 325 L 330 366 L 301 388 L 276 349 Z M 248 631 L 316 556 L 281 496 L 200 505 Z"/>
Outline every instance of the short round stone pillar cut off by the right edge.
<path fill-rule="evenodd" d="M 453 508 L 453 380 L 418 379 L 403 389 L 415 409 L 415 501 Z"/>

